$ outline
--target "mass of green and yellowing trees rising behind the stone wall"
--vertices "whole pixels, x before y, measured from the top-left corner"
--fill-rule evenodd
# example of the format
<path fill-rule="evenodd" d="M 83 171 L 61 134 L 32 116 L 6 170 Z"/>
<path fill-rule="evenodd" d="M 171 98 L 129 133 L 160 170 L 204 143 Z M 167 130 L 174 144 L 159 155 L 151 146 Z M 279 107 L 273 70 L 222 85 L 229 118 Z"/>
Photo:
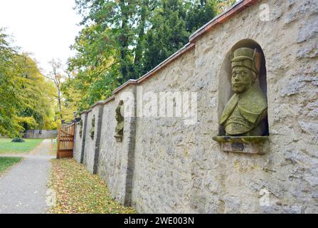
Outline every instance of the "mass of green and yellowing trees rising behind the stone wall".
<path fill-rule="evenodd" d="M 77 55 L 68 61 L 75 76 L 62 90 L 70 106 L 83 110 L 178 51 L 191 33 L 235 0 L 75 2 L 84 28 L 72 46 Z"/>

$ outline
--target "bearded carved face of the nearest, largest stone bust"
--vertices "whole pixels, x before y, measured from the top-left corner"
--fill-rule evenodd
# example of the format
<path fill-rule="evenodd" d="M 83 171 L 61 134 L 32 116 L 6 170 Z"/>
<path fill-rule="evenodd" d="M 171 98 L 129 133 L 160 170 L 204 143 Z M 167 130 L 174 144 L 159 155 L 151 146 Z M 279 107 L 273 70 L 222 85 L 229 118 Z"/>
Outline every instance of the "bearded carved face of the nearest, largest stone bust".
<path fill-rule="evenodd" d="M 232 89 L 234 93 L 244 93 L 253 85 L 255 76 L 250 68 L 235 66 L 232 70 Z"/>

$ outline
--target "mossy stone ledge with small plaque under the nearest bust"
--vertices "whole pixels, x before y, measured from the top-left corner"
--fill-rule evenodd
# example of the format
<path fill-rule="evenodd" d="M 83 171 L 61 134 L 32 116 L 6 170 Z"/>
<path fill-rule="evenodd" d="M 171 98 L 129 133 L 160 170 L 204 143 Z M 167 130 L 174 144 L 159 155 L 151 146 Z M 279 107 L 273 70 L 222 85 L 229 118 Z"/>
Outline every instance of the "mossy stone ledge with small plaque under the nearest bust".
<path fill-rule="evenodd" d="M 264 154 L 268 136 L 216 136 L 213 140 L 221 143 L 223 151 Z"/>

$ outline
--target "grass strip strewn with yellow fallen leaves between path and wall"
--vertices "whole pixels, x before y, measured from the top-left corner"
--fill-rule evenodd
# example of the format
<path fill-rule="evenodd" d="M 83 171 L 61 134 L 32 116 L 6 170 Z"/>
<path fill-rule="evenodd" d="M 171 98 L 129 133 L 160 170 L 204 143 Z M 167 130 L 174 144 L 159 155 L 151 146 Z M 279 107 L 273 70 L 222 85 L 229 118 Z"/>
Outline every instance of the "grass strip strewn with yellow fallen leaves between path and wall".
<path fill-rule="evenodd" d="M 110 196 L 105 183 L 73 159 L 51 160 L 49 187 L 56 193 L 53 214 L 132 214 Z"/>

